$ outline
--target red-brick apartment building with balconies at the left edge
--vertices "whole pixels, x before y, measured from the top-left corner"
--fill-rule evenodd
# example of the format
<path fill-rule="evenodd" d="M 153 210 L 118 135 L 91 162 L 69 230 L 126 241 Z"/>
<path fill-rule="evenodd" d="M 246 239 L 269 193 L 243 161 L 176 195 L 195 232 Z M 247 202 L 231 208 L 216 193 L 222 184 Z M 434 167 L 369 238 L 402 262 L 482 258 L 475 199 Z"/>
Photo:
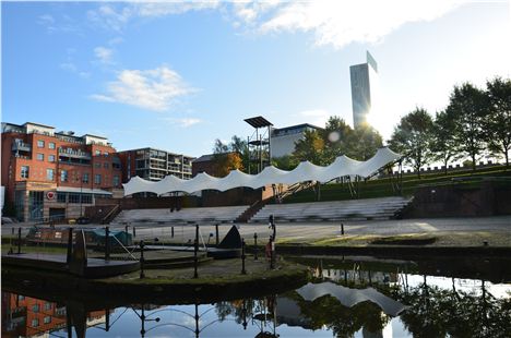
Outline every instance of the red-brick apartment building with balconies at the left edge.
<path fill-rule="evenodd" d="M 121 162 L 102 136 L 2 123 L 1 181 L 20 220 L 75 218 L 96 197 L 122 196 Z"/>

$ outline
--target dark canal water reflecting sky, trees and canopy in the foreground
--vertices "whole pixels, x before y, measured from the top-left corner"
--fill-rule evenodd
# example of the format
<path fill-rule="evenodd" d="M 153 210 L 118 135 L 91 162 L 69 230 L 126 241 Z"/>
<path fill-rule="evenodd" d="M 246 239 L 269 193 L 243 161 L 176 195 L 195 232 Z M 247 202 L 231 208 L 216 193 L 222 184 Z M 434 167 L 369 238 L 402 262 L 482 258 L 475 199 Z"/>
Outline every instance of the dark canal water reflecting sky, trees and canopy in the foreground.
<path fill-rule="evenodd" d="M 21 283 L 2 289 L 2 337 L 511 337 L 511 267 L 498 259 L 288 259 L 309 283 L 214 303 L 102 306 Z"/>

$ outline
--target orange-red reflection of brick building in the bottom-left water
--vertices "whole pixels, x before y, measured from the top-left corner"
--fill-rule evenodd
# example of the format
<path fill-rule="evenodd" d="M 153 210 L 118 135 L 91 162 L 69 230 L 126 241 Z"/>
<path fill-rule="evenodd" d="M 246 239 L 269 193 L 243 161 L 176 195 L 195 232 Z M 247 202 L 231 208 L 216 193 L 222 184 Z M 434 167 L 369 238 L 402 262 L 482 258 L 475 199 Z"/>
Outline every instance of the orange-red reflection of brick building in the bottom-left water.
<path fill-rule="evenodd" d="M 2 292 L 2 337 L 40 336 L 66 328 L 66 306 L 62 304 Z M 87 326 L 104 322 L 104 311 L 87 313 Z"/>

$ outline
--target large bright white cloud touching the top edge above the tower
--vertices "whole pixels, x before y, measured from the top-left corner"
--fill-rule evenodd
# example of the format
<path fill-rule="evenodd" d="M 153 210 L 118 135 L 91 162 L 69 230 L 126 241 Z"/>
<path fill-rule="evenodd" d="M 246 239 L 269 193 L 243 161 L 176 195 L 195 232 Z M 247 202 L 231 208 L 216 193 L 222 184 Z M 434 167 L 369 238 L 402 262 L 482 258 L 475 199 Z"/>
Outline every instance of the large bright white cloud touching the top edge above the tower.
<path fill-rule="evenodd" d="M 408 22 L 431 21 L 459 7 L 461 0 L 358 0 L 289 2 L 259 25 L 262 34 L 313 32 L 317 45 L 342 48 L 377 43 Z"/>

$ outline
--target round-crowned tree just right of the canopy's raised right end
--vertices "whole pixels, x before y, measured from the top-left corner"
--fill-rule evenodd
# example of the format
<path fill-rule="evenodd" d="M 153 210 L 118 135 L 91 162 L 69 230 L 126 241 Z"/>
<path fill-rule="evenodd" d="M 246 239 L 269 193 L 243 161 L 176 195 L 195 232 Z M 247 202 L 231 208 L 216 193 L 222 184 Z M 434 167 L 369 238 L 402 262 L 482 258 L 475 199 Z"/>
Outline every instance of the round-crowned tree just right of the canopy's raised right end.
<path fill-rule="evenodd" d="M 432 157 L 429 150 L 432 125 L 431 116 L 425 109 L 416 108 L 401 118 L 389 141 L 392 149 L 406 156 L 405 161 L 417 171 L 418 178 L 420 168 Z"/>

